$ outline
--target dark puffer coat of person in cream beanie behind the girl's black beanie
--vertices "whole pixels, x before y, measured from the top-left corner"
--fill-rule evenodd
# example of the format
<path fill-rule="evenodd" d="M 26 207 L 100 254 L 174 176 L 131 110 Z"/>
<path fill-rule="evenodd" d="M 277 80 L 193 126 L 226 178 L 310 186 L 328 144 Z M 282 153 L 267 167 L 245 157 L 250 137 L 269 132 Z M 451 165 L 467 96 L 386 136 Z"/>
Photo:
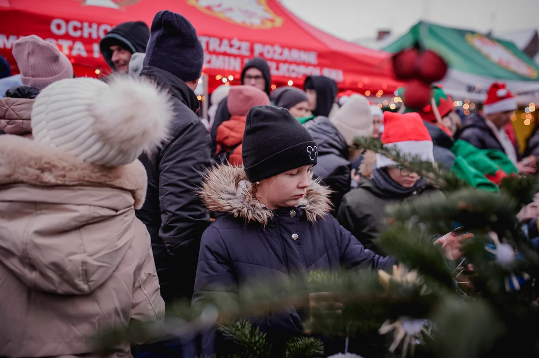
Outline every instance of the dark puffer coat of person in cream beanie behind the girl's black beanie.
<path fill-rule="evenodd" d="M 306 122 L 305 128 L 318 146 L 318 164 L 313 167 L 314 176 L 322 178 L 324 184 L 334 192 L 330 199 L 336 215 L 343 195 L 350 191 L 348 144 L 327 117 L 316 117 Z"/>

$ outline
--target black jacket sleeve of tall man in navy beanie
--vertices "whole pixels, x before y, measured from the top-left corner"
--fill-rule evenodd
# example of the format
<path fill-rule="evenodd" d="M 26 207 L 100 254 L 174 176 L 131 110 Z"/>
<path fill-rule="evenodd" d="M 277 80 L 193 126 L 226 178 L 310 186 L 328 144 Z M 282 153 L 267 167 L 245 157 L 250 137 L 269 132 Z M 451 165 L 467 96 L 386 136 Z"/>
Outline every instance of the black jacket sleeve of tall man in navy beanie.
<path fill-rule="evenodd" d="M 210 138 L 204 125 L 197 122 L 182 124 L 174 134 L 174 141 L 163 149 L 159 163 L 159 236 L 170 255 L 178 260 L 191 259 L 194 255 L 196 262 L 200 238 L 210 223 L 197 196 L 210 164 Z"/>

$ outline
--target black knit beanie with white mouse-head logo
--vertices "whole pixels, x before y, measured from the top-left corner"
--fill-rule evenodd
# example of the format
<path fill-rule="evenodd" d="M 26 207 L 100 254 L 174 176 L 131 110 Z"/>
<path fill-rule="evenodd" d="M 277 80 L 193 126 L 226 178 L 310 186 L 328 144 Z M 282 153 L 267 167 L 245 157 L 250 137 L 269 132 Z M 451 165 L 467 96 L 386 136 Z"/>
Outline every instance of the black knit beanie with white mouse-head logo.
<path fill-rule="evenodd" d="M 250 182 L 315 165 L 317 157 L 313 137 L 288 109 L 255 106 L 247 113 L 241 158 Z"/>

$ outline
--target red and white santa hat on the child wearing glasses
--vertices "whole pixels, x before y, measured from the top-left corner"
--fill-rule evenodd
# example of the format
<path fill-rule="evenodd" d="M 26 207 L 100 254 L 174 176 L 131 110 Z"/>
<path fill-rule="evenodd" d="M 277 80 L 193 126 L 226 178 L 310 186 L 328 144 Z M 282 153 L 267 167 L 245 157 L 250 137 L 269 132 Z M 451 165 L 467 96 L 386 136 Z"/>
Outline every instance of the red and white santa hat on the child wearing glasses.
<path fill-rule="evenodd" d="M 385 112 L 384 128 L 381 141 L 385 148 L 393 147 L 406 157 L 419 156 L 421 160 L 434 163 L 431 135 L 419 114 Z M 376 155 L 378 168 L 397 164 L 395 160 Z"/>

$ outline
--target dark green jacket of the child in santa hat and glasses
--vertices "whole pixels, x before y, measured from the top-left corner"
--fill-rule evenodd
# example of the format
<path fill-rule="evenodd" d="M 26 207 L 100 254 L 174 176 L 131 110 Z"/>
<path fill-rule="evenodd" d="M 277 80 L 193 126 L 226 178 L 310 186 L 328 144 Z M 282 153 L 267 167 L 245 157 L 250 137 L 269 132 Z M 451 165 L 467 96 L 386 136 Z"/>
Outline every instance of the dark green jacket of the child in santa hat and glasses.
<path fill-rule="evenodd" d="M 435 197 L 443 194 L 432 186 L 426 186 L 410 195 L 398 195 L 382 191 L 369 179 L 361 178 L 358 188 L 344 195 L 337 220 L 354 236 L 361 237 L 365 248 L 383 254 L 375 241 L 387 228 L 385 207 L 425 195 Z"/>

